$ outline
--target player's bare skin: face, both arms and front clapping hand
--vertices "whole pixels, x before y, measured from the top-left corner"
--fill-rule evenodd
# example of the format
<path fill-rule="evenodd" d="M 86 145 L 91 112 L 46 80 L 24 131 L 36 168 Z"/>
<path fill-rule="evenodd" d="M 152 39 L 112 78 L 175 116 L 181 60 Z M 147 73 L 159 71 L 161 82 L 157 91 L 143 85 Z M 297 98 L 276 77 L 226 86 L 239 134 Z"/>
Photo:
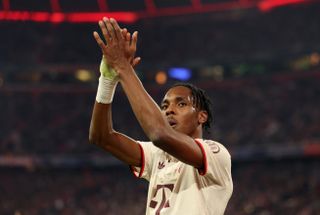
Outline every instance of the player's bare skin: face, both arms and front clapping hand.
<path fill-rule="evenodd" d="M 100 25 L 107 44 L 98 33 L 94 37 L 107 62 L 118 73 L 120 84 L 131 108 L 148 138 L 165 152 L 196 168 L 203 167 L 203 155 L 194 138 L 202 138 L 202 125 L 207 113 L 194 107 L 191 91 L 182 86 L 171 88 L 161 109 L 144 89 L 129 60 L 128 39 L 114 19 L 104 19 Z M 113 129 L 111 104 L 95 102 L 89 134 L 96 144 L 119 160 L 141 166 L 140 148 L 130 137 Z"/>

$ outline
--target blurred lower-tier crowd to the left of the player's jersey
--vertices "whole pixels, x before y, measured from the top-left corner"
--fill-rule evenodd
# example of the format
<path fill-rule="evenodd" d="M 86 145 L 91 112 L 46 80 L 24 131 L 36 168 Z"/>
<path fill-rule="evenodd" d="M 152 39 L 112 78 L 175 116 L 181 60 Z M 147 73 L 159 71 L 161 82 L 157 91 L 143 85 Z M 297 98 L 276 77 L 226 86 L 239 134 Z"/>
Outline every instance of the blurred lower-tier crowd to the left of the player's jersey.
<path fill-rule="evenodd" d="M 0 214 L 143 214 L 146 183 L 129 174 L 123 167 L 0 171 Z"/>

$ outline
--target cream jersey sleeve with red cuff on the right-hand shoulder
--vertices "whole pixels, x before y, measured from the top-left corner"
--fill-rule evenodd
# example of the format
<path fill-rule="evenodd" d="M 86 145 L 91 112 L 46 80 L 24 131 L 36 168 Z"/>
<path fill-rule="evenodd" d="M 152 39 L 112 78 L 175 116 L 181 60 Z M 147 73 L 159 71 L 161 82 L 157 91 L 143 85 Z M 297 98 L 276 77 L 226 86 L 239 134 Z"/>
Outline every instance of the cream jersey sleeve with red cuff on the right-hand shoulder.
<path fill-rule="evenodd" d="M 198 170 L 199 174 L 217 185 L 232 184 L 231 156 L 228 150 L 215 141 L 201 139 L 195 141 L 203 154 L 204 166 Z"/>

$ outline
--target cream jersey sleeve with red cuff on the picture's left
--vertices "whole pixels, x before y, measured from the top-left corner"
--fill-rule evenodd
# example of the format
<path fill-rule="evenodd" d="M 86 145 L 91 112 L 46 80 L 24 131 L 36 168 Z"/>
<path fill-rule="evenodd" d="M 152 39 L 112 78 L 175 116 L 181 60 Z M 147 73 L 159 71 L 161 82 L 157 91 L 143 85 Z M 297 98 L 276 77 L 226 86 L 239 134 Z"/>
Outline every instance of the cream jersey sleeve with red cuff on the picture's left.
<path fill-rule="evenodd" d="M 152 166 L 153 166 L 153 154 L 156 151 L 156 147 L 152 142 L 137 141 L 141 152 L 141 167 L 130 166 L 132 173 L 138 178 L 144 178 L 150 180 Z"/>

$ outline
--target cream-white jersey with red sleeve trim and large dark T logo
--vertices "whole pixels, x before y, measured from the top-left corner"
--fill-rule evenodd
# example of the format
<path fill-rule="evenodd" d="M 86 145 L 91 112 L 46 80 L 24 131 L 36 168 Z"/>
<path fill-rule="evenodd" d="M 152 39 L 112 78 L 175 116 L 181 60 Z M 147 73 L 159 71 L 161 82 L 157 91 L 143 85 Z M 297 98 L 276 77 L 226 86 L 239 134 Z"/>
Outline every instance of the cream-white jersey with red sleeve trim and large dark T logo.
<path fill-rule="evenodd" d="M 139 142 L 142 167 L 137 177 L 149 181 L 146 215 L 222 215 L 231 197 L 231 157 L 220 143 L 196 139 L 204 169 L 185 164 L 152 142 Z"/>

